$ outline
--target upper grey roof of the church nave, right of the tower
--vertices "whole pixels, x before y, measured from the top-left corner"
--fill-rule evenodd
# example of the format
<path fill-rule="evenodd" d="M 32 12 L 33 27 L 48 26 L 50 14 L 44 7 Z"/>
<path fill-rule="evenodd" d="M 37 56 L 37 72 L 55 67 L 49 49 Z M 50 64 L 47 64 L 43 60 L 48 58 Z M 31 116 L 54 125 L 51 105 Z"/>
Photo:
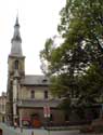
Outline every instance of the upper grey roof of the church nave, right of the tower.
<path fill-rule="evenodd" d="M 46 76 L 25 76 L 21 81 L 23 85 L 48 85 L 49 79 Z"/>

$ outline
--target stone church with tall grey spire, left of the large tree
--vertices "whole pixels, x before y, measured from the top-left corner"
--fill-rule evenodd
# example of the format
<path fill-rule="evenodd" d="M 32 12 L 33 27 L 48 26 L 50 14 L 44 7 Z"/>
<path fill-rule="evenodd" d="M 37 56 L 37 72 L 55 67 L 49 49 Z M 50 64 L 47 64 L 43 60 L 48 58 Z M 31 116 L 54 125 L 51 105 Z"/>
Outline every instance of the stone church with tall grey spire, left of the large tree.
<path fill-rule="evenodd" d="M 30 52 L 29 52 L 30 53 Z M 18 17 L 14 25 L 11 52 L 8 57 L 8 90 L 5 118 L 10 125 L 40 127 L 47 123 L 61 125 L 68 117 L 59 108 L 62 98 L 53 97 L 49 78 L 26 75 Z"/>

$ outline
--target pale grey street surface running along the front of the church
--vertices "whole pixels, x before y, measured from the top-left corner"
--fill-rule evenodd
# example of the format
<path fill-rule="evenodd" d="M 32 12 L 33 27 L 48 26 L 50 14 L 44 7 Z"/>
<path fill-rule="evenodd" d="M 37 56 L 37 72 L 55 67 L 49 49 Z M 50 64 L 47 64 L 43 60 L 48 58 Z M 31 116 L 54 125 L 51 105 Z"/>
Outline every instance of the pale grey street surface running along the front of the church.
<path fill-rule="evenodd" d="M 69 130 L 69 131 L 48 131 L 44 129 L 21 130 L 20 127 L 14 129 L 3 123 L 0 123 L 0 129 L 3 131 L 3 135 L 85 135 L 80 134 L 79 130 Z"/>

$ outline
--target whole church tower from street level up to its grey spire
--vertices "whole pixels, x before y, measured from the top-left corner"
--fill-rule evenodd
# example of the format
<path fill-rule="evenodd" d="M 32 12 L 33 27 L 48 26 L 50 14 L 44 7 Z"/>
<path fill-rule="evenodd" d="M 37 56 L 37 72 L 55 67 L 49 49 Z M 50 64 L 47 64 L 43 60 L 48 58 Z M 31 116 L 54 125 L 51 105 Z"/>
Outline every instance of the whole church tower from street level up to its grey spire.
<path fill-rule="evenodd" d="M 18 17 L 14 25 L 14 35 L 11 40 L 11 53 L 8 57 L 8 103 L 7 120 L 13 125 L 17 113 L 17 99 L 21 79 L 25 77 L 25 56 L 22 52 L 22 38 L 20 33 Z"/>

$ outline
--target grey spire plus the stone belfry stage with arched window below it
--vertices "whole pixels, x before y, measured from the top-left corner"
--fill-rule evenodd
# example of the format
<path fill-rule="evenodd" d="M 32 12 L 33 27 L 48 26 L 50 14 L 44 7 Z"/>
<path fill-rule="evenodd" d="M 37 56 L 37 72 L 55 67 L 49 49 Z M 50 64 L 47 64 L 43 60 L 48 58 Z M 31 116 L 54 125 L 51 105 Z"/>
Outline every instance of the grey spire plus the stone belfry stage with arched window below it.
<path fill-rule="evenodd" d="M 9 76 L 12 78 L 16 70 L 22 78 L 25 75 L 25 56 L 23 56 L 22 52 L 22 39 L 20 35 L 18 17 L 16 17 L 16 22 L 14 25 L 14 35 L 11 43 L 12 48 L 8 60 Z"/>

